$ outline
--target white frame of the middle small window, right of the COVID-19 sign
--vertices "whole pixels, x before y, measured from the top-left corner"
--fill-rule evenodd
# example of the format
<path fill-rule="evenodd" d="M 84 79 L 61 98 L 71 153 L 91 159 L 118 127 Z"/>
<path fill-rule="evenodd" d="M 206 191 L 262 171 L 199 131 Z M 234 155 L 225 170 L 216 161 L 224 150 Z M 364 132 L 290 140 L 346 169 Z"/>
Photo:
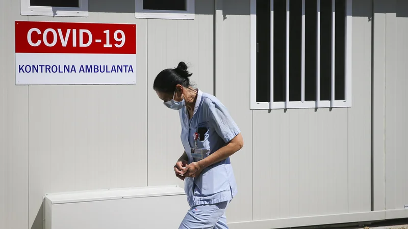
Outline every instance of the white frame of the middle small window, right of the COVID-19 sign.
<path fill-rule="evenodd" d="M 171 1 L 171 0 L 168 0 Z M 195 17 L 195 0 L 186 1 L 187 10 L 144 10 L 143 0 L 135 0 L 135 18 L 147 19 L 189 19 L 193 20 Z"/>

